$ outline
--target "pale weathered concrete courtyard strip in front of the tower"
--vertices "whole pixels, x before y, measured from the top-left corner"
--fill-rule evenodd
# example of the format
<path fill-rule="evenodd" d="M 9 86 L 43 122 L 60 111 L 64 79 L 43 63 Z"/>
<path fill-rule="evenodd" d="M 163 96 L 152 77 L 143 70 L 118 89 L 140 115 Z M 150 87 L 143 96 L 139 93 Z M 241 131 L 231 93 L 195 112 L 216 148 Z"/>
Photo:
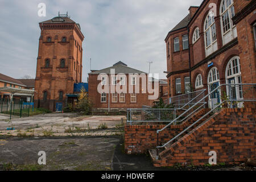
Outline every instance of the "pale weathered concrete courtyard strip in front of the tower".
<path fill-rule="evenodd" d="M 0 114 L 0 135 L 11 136 L 87 136 L 119 135 L 125 116 L 89 116 L 77 113 L 50 113 L 27 118 Z M 14 127 L 15 130 L 6 130 Z"/>

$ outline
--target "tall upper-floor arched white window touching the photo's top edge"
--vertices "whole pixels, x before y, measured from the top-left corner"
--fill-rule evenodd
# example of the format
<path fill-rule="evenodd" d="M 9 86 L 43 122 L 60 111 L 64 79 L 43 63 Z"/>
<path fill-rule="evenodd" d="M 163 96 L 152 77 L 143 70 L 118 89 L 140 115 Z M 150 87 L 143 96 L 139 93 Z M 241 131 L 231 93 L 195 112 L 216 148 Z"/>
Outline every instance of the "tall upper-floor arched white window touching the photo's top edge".
<path fill-rule="evenodd" d="M 230 42 L 237 37 L 237 29 L 233 24 L 232 18 L 234 17 L 234 2 L 233 0 L 222 0 L 220 7 L 221 16 L 221 32 L 223 44 Z"/>

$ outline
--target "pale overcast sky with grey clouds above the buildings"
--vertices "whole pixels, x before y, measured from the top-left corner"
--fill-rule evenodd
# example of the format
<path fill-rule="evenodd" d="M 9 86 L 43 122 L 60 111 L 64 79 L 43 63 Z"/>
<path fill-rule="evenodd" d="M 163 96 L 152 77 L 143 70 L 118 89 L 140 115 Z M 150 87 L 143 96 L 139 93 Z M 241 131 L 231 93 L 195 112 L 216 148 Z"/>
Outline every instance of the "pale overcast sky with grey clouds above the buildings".
<path fill-rule="evenodd" d="M 82 81 L 92 69 L 103 69 L 117 61 L 129 67 L 166 78 L 166 38 L 189 6 L 203 0 L 0 0 L 0 73 L 20 78 L 35 77 L 40 36 L 39 22 L 60 11 L 81 26 Z M 38 4 L 46 4 L 46 16 L 38 16 Z"/>

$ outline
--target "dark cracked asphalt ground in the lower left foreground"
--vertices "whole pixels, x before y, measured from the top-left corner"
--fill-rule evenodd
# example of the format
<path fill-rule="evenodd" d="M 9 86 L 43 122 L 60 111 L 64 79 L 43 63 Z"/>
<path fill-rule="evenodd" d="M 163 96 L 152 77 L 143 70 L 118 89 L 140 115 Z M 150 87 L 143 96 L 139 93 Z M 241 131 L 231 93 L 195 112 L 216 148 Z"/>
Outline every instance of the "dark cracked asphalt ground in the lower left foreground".
<path fill-rule="evenodd" d="M 114 150 L 120 140 L 120 137 L 1 137 L 0 164 L 36 165 L 38 152 L 45 151 L 47 164 L 40 166 L 41 170 L 108 171 L 112 169 Z"/>

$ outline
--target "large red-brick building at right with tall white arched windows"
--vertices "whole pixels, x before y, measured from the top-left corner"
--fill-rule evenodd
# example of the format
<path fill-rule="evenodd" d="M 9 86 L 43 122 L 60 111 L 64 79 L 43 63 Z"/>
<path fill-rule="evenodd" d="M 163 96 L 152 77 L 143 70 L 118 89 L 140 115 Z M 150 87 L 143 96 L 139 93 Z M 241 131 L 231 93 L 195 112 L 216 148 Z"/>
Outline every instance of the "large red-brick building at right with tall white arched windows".
<path fill-rule="evenodd" d="M 256 82 L 255 7 L 252 0 L 204 0 L 189 8 L 165 39 L 169 97 Z M 242 97 L 239 89 L 234 95 Z"/>

